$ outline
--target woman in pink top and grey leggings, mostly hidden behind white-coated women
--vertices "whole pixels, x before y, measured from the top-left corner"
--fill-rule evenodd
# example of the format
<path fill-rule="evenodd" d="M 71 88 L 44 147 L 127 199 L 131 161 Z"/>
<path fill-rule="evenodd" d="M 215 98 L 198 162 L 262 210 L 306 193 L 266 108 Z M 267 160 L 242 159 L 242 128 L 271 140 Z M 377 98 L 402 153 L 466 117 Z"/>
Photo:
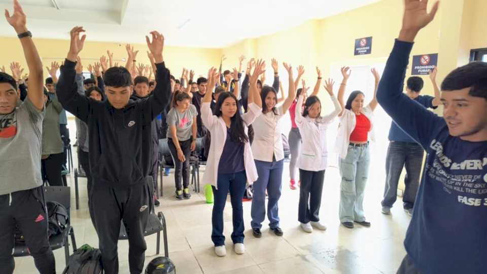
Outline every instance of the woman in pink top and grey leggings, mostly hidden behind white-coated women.
<path fill-rule="evenodd" d="M 318 66 L 316 67 L 316 73 L 318 74 L 318 80 L 316 81 L 315 89 L 313 90 L 313 93 L 311 93 L 310 96 L 316 96 L 318 92 L 320 91 L 320 85 L 321 85 L 321 71 Z M 296 78 L 296 81 L 294 81 L 294 86 L 297 87 L 299 80 L 301 79 L 301 76 L 304 74 L 304 67 L 300 65 L 298 67 L 298 77 Z M 291 181 L 289 183 L 289 187 L 291 189 L 296 189 L 296 163 L 298 162 L 298 157 L 299 154 L 301 154 L 301 134 L 299 134 L 299 129 L 298 126 L 296 125 L 296 122 L 294 121 L 295 118 L 295 113 L 296 113 L 296 104 L 299 98 L 299 95 L 301 94 L 301 88 L 298 88 L 296 91 L 296 99 L 294 100 L 293 104 L 289 108 L 289 116 L 291 116 L 291 130 L 289 131 L 288 135 L 288 143 L 289 143 L 289 150 L 291 151 L 291 161 L 289 162 L 289 177 L 291 177 Z M 304 98 L 303 101 L 306 101 L 306 98 Z M 300 107 L 302 108 L 302 106 Z"/>

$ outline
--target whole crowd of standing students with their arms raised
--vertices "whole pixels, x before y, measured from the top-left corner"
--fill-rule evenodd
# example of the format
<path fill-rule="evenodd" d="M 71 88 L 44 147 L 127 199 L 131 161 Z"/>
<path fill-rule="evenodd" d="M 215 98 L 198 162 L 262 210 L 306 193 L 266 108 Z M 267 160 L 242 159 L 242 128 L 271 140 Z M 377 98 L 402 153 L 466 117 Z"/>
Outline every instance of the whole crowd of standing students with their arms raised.
<path fill-rule="evenodd" d="M 336 97 L 335 82 L 325 81 L 333 108 L 322 115 L 319 68 L 309 96 L 301 79 L 303 67 L 298 67 L 294 77 L 291 64 L 283 63 L 289 87 L 285 96 L 275 59 L 271 61 L 272 86 L 265 84 L 265 61 L 251 59 L 243 72 L 243 56 L 238 70 L 222 72 L 222 58 L 219 70 L 210 68 L 206 78 L 194 81 L 195 73 L 184 69 L 181 79 L 176 79 L 164 63 L 164 37 L 157 31 L 146 36 L 151 66 L 137 66 L 138 51 L 127 45 L 125 67 L 113 63 L 113 54 L 107 51 L 108 58 L 102 56 L 89 65 L 92 77 L 84 79 L 79 53 L 86 35 L 83 27 L 76 26 L 70 32 L 71 43 L 62 65 L 51 63 L 47 67 L 50 77 L 44 79 L 26 15 L 15 0 L 14 13 L 6 12 L 6 18 L 18 34 L 29 73 L 22 77 L 23 69 L 16 62 L 10 65 L 12 75 L 0 73 L 0 242 L 4 243 L 0 268 L 13 273 L 11 254 L 18 225 L 38 270 L 55 273 L 42 185 L 45 181 L 62 185 L 61 170 L 69 144 L 65 111 L 76 116 L 79 160 L 88 181 L 89 212 L 103 268 L 106 273 L 119 271 L 117 242 L 123 221 L 130 272 L 141 273 L 146 250 L 143 231 L 151 203 L 158 202 L 153 186 L 157 183 L 160 139 L 167 138 L 175 166 L 177 199 L 191 197 L 191 155 L 206 160 L 203 182 L 213 188 L 211 238 L 215 253 L 226 255 L 223 210 L 229 193 L 233 249 L 243 254 L 242 198 L 249 183 L 253 184 L 253 235 L 261 237 L 266 213 L 270 230 L 277 236 L 284 234 L 278 203 L 284 170 L 281 119 L 288 111 L 292 123 L 289 187 L 299 186 L 297 220 L 302 230 L 326 230 L 320 222 L 320 205 L 329 156 L 326 134 L 335 118 L 339 126 L 330 129 L 337 133 L 334 151 L 341 176 L 340 222 L 346 228 L 371 225 L 363 200 L 369 144 L 374 141 L 373 113 L 380 104 L 393 118 L 382 213 L 390 214 L 405 166 L 403 207 L 412 216 L 404 242 L 407 255 L 398 273 L 484 272 L 487 264 L 481 251 L 487 250 L 487 227 L 481 216 L 487 213 L 487 194 L 482 191 L 487 185 L 487 64 L 473 62 L 457 68 L 444 79 L 442 94 L 435 68 L 430 73 L 434 97 L 420 95 L 423 80 L 410 77 L 404 94 L 402 85 L 414 38 L 438 9 L 435 4 L 427 13 L 426 5 L 424 0 L 405 0 L 402 29 L 384 75 L 380 78 L 371 70 L 375 88 L 368 104 L 359 90 L 344 100 L 353 73 L 342 67 Z M 240 82 L 241 72 L 245 77 Z M 443 117 L 426 110 L 439 105 L 443 105 Z M 204 145 L 196 152 L 198 138 Z M 427 158 L 420 184 L 424 150 Z M 168 170 L 161 172 L 166 175 Z M 454 188 L 458 184 L 472 189 L 465 193 Z"/>

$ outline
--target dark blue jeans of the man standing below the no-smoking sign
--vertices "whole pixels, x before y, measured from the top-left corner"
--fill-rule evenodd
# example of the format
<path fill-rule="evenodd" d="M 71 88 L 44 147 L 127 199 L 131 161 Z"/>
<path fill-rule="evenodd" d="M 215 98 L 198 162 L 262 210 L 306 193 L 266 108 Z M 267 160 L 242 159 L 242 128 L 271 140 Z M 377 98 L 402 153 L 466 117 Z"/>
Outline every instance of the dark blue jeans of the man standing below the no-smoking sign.
<path fill-rule="evenodd" d="M 419 144 L 408 142 L 389 143 L 386 157 L 386 187 L 382 207 L 391 208 L 397 199 L 397 184 L 402 168 L 406 166 L 404 184 L 406 189 L 402 197 L 404 209 L 412 209 L 416 192 L 420 186 L 421 166 L 424 150 Z"/>

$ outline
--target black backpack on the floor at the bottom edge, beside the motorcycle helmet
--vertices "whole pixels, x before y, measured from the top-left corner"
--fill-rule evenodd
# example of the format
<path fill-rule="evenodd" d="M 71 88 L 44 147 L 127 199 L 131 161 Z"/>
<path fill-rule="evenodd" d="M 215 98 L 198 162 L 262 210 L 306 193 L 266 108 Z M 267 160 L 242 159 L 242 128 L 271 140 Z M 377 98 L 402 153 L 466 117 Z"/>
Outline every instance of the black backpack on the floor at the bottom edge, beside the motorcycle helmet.
<path fill-rule="evenodd" d="M 100 274 L 102 272 L 100 250 L 83 245 L 69 256 L 62 274 Z"/>

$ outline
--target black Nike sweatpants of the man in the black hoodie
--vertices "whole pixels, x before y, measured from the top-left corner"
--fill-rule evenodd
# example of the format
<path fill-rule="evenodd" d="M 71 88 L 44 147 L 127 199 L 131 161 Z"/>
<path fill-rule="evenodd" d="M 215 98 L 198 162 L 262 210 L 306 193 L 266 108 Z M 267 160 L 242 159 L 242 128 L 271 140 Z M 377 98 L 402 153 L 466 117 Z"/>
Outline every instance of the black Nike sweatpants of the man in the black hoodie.
<path fill-rule="evenodd" d="M 117 244 L 121 220 L 128 235 L 130 273 L 142 273 L 147 249 L 144 229 L 153 202 L 153 190 L 147 182 L 130 188 L 115 189 L 96 182 L 96 178 L 94 180 L 89 197 L 89 211 L 98 234 L 105 273 L 118 273 Z M 152 177 L 147 177 L 147 180 L 152 180 Z"/>

